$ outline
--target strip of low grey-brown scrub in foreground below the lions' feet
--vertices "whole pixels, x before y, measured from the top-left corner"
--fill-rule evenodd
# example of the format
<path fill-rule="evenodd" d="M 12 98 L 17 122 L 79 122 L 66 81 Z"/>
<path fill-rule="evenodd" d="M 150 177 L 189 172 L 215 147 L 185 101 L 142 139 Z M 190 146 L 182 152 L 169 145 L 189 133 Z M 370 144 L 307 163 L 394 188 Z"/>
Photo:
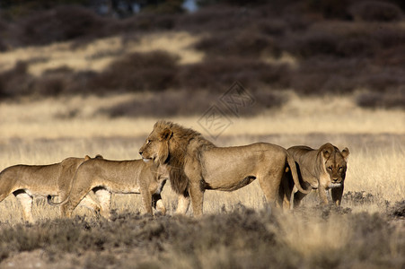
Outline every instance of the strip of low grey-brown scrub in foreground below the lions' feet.
<path fill-rule="evenodd" d="M 130 267 L 401 267 L 405 238 L 403 231 L 401 234 L 389 224 L 403 212 L 401 204 L 390 211 L 395 213 L 392 216 L 334 211 L 320 216 L 317 209 L 310 208 L 270 213 L 240 205 L 232 212 L 204 215 L 198 220 L 121 213 L 112 221 L 76 217 L 3 225 L 0 253 L 6 257 L 42 249 L 42 258 L 51 260 L 71 253 L 78 264 L 95 268 L 96 256 L 101 256 L 105 265 Z M 140 254 L 142 261 L 136 259 Z M 130 260 L 133 263 L 126 264 Z"/>

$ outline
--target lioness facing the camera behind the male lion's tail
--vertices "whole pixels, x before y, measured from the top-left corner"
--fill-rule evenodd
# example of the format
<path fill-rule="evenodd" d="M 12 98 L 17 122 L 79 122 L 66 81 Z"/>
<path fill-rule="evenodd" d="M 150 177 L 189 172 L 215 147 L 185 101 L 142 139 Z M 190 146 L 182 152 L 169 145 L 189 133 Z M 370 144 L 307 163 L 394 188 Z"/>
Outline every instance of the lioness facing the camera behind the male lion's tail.
<path fill-rule="evenodd" d="M 299 179 L 304 182 L 304 186 L 318 189 L 322 204 L 328 204 L 326 190 L 331 189 L 333 203 L 340 205 L 348 168 L 348 148 L 340 152 L 336 146 L 325 143 L 318 150 L 308 146 L 294 146 L 287 152 L 293 156 Z M 295 188 L 292 190 L 294 182 L 291 176 L 287 178 L 286 200 L 289 200 L 289 206 L 294 208 L 306 194 Z"/>

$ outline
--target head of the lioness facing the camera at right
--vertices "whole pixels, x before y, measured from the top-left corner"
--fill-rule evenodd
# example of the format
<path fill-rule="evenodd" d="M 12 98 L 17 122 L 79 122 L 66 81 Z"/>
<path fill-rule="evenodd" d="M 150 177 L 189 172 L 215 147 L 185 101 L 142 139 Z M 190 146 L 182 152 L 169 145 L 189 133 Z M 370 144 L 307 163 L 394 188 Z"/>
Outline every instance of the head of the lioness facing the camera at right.
<path fill-rule="evenodd" d="M 325 170 L 330 177 L 329 187 L 340 187 L 346 178 L 346 170 L 348 169 L 348 148 L 340 152 L 331 143 L 325 143 L 319 151 L 323 157 Z"/>

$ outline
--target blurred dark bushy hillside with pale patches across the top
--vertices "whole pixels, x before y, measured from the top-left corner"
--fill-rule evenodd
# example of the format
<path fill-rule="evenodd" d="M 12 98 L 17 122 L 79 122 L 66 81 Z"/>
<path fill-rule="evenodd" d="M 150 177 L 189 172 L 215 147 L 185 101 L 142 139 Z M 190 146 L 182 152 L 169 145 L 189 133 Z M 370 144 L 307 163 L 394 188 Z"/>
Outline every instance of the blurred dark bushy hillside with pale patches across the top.
<path fill-rule="evenodd" d="M 404 9 L 401 0 L 2 0 L 0 102 L 136 93 L 92 113 L 190 116 L 238 81 L 256 100 L 246 116 L 292 96 L 403 110 Z"/>

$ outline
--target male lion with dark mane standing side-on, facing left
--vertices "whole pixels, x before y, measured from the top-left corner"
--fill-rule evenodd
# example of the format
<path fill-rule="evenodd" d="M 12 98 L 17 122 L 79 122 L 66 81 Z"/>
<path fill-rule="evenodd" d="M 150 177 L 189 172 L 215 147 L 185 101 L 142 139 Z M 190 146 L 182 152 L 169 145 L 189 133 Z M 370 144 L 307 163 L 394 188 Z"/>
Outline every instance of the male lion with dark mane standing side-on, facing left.
<path fill-rule="evenodd" d="M 178 193 L 177 213 L 186 213 L 189 197 L 195 216 L 203 211 L 204 191 L 233 191 L 258 178 L 268 203 L 280 204 L 281 178 L 289 167 L 296 186 L 295 162 L 286 149 L 271 143 L 216 147 L 198 132 L 172 122 L 158 121 L 140 148 L 144 161 L 166 165 L 173 190 Z"/>

